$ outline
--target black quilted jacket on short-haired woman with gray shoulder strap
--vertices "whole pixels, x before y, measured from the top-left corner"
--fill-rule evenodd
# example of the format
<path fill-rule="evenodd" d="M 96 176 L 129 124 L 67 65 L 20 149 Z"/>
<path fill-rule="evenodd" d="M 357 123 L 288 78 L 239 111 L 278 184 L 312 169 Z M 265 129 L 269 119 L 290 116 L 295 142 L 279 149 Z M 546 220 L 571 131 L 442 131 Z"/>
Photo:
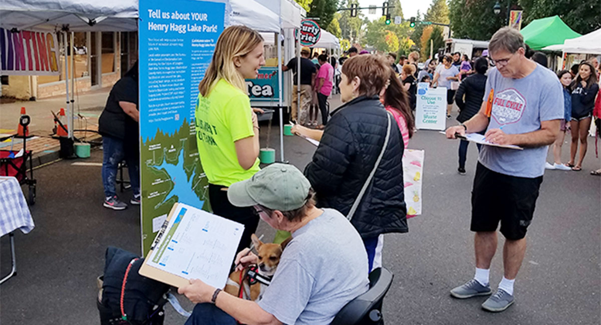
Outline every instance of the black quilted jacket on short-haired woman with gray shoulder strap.
<path fill-rule="evenodd" d="M 355 98 L 332 112 L 313 161 L 305 168 L 317 192 L 317 206 L 349 213 L 382 151 L 387 115 L 377 97 Z M 402 158 L 403 139 L 391 116 L 388 146 L 351 221 L 364 239 L 408 231 Z"/>

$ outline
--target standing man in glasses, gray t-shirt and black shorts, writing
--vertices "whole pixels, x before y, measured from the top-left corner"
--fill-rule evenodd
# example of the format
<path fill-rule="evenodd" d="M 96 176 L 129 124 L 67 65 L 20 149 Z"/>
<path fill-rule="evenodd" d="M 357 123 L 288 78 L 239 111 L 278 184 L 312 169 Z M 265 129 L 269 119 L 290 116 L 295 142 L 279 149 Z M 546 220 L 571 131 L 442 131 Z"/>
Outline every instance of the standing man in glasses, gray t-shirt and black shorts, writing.
<path fill-rule="evenodd" d="M 482 308 L 499 312 L 514 302 L 513 284 L 526 251 L 526 229 L 532 221 L 538 189 L 543 181 L 547 146 L 557 138 L 563 119 L 563 89 L 554 73 L 526 59 L 522 35 L 501 28 L 489 42 L 496 68 L 489 70 L 480 112 L 447 137 L 486 130 L 486 140 L 517 145 L 523 150 L 484 145 L 472 189 L 476 272 L 473 279 L 451 290 L 466 299 L 492 293 L 490 261 L 495 255 L 496 229 L 505 237 L 504 276 Z"/>

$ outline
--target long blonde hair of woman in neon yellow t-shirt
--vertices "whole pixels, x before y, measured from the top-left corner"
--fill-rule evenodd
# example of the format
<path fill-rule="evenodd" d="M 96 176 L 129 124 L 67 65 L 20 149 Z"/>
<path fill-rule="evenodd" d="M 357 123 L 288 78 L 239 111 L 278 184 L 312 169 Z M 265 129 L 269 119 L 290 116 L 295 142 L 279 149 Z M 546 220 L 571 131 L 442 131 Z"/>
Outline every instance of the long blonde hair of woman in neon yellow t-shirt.
<path fill-rule="evenodd" d="M 226 28 L 215 46 L 213 59 L 198 85 L 198 91 L 207 97 L 219 79 L 224 79 L 246 94 L 246 84 L 234 66 L 236 56 L 245 56 L 263 41 L 263 37 L 254 29 L 242 25 Z"/>

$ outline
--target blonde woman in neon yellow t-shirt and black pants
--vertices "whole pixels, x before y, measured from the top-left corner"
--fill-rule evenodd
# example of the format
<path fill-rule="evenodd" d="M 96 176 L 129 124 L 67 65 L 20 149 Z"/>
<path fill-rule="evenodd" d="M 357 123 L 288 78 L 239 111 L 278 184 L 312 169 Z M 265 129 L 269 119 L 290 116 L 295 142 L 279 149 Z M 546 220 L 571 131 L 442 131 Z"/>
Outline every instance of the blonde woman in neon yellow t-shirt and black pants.
<path fill-rule="evenodd" d="M 263 37 L 245 26 L 222 32 L 204 79 L 195 112 L 198 154 L 209 179 L 209 201 L 216 215 L 245 225 L 238 251 L 257 230 L 254 207 L 234 207 L 227 188 L 259 170 L 259 127 L 244 79 L 255 79 L 265 64 Z"/>

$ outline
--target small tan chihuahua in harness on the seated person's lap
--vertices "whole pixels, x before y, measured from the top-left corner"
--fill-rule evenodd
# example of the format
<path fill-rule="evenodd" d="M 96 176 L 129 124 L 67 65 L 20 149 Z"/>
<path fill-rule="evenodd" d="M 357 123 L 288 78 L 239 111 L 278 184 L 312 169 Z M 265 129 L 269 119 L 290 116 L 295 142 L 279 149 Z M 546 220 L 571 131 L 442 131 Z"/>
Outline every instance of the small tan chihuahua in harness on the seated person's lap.
<path fill-rule="evenodd" d="M 252 244 L 257 249 L 257 273 L 265 278 L 271 278 L 275 274 L 275 270 L 279 264 L 279 258 L 282 256 L 282 252 L 284 248 L 292 237 L 288 237 L 281 244 L 275 243 L 264 243 L 261 242 L 257 238 L 255 234 L 252 234 L 251 240 Z M 242 272 L 242 284 L 240 284 L 240 273 Z M 255 284 L 250 285 L 246 274 L 248 273 L 248 267 L 241 271 L 234 271 L 230 274 L 230 278 L 227 280 L 227 284 L 225 284 L 224 291 L 239 297 L 240 291 L 242 291 L 242 298 L 246 300 L 252 300 L 258 302 L 263 297 L 263 293 L 267 285 L 262 284 L 261 282 L 255 282 Z"/>

